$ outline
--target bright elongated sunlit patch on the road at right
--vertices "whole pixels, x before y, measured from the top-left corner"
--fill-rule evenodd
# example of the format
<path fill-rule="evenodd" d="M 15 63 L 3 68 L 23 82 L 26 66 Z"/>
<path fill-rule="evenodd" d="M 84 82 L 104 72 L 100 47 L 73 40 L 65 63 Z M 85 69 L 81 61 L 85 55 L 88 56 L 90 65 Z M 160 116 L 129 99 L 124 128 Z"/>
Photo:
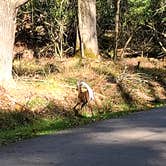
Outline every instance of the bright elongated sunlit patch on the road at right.
<path fill-rule="evenodd" d="M 104 137 L 103 137 L 104 136 Z M 134 128 L 134 129 L 122 129 L 110 132 L 97 132 L 89 134 L 88 142 L 90 143 L 103 143 L 110 144 L 114 142 L 116 144 L 144 141 L 165 141 L 166 131 L 158 133 L 148 128 Z"/>

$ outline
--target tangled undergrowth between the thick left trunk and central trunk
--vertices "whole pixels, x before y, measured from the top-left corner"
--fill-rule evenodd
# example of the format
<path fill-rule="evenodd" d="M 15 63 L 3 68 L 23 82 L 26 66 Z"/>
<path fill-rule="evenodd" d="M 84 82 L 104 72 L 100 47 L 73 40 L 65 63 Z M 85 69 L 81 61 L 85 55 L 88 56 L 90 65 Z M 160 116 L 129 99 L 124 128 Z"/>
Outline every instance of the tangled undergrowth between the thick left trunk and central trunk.
<path fill-rule="evenodd" d="M 24 36 L 24 42 L 36 47 L 37 56 L 62 57 L 73 47 L 71 35 L 75 32 L 70 29 L 75 23 L 73 4 L 69 0 L 30 1 L 19 11 L 16 41 Z"/>

